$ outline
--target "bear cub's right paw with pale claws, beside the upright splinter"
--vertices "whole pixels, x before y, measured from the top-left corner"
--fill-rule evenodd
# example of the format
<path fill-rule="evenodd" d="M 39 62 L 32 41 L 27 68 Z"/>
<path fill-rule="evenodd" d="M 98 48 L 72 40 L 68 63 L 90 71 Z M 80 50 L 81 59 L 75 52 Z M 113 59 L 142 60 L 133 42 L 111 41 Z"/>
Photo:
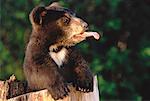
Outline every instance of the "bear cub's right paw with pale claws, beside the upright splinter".
<path fill-rule="evenodd" d="M 76 88 L 77 91 L 82 91 L 84 93 L 93 92 L 93 78 L 78 78 L 73 82 L 73 86 Z"/>

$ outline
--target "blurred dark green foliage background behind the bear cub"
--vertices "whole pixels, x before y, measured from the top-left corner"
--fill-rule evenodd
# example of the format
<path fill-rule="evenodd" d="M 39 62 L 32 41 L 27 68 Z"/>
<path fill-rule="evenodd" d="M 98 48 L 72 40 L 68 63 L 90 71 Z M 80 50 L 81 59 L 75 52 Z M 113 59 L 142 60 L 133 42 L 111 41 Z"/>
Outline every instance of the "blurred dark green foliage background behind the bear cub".
<path fill-rule="evenodd" d="M 31 32 L 29 13 L 50 0 L 0 1 L 0 79 L 15 74 L 24 80 L 22 64 Z M 101 100 L 150 100 L 150 0 L 60 0 L 103 32 L 99 41 L 78 45 L 98 75 Z"/>

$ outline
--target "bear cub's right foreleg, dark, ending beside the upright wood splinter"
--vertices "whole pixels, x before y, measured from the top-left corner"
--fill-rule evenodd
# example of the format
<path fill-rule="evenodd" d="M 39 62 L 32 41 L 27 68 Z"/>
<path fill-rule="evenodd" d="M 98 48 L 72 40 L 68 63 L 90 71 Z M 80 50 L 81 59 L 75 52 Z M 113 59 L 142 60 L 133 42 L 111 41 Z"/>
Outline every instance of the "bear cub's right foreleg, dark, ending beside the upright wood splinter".
<path fill-rule="evenodd" d="M 93 91 L 93 74 L 88 67 L 88 63 L 84 60 L 79 52 L 72 52 L 72 61 L 74 61 L 74 78 L 73 86 L 78 91 L 92 92 Z"/>

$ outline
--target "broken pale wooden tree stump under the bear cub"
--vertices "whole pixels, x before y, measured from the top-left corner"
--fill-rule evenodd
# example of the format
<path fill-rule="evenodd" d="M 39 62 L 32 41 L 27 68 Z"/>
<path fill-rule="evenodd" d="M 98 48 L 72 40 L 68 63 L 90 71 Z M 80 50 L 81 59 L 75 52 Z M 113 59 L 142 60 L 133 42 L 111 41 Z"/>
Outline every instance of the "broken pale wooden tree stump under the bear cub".
<path fill-rule="evenodd" d="M 76 91 L 72 86 L 69 86 L 69 88 L 69 96 L 57 101 L 99 101 L 96 76 L 94 77 L 93 92 L 82 93 Z M 13 75 L 9 80 L 0 81 L 0 101 L 55 101 L 48 93 L 47 89 L 36 92 L 27 92 L 27 89 L 26 84 L 24 82 L 16 81 L 15 76 Z"/>

